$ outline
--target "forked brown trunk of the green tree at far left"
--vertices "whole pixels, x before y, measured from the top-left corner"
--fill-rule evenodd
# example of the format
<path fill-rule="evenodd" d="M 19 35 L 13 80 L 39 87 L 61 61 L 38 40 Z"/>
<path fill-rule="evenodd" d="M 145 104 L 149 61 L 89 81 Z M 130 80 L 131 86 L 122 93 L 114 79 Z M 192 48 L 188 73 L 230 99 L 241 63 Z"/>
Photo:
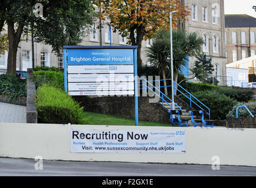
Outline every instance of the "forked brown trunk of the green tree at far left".
<path fill-rule="evenodd" d="M 19 23 L 19 26 L 16 32 L 14 29 L 13 21 L 8 21 L 7 24 L 8 24 L 8 40 L 9 40 L 7 73 L 9 75 L 15 75 L 18 45 L 21 39 L 21 33 L 23 30 L 24 24 Z"/>

